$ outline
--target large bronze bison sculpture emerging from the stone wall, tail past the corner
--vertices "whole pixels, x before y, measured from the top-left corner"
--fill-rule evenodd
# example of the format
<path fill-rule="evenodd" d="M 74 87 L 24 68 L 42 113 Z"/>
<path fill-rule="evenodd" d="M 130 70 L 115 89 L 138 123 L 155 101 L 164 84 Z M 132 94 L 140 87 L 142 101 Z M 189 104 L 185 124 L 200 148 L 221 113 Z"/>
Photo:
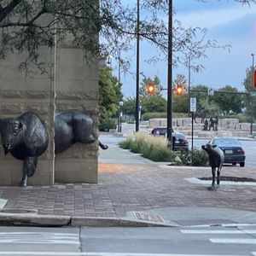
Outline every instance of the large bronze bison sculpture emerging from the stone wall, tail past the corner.
<path fill-rule="evenodd" d="M 55 154 L 70 148 L 74 143 L 94 143 L 93 120 L 90 115 L 75 110 L 55 112 Z M 26 112 L 17 118 L 0 120 L 0 134 L 4 154 L 24 160 L 20 186 L 26 187 L 27 177 L 36 171 L 38 156 L 48 147 L 49 137 L 38 114 Z M 108 146 L 99 143 L 102 149 Z"/>

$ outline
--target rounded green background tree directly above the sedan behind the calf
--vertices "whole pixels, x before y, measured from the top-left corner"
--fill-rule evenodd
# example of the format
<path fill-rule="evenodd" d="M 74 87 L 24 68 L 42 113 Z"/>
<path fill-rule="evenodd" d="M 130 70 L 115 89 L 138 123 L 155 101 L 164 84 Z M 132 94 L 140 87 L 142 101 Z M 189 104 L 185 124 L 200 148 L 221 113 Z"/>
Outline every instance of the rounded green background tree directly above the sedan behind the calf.
<path fill-rule="evenodd" d="M 239 94 L 236 94 L 238 90 L 235 87 L 226 85 L 223 88 L 220 88 L 218 91 L 223 93 L 214 93 L 214 96 L 211 98 L 213 102 L 216 102 L 221 113 L 224 115 L 241 113 L 242 98 Z M 224 91 L 235 93 L 224 93 Z"/>

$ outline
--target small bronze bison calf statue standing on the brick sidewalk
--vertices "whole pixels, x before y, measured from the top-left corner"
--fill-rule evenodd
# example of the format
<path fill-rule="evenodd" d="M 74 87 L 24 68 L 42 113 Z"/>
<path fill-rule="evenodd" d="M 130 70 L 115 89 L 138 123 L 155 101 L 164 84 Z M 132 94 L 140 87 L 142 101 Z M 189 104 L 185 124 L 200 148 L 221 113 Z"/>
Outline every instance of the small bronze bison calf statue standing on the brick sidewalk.
<path fill-rule="evenodd" d="M 217 145 L 206 144 L 201 146 L 209 156 L 209 164 L 212 167 L 212 186 L 209 190 L 215 190 L 219 187 L 219 176 L 224 163 L 224 153 Z M 217 185 L 215 185 L 217 168 Z"/>

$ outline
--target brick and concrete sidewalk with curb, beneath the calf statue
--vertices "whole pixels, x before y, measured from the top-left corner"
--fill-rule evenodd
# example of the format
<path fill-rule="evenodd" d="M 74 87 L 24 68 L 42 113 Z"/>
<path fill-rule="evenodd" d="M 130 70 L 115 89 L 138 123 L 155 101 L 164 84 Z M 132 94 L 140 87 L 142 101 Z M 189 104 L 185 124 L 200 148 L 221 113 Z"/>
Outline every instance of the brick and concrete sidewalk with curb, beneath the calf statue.
<path fill-rule="evenodd" d="M 223 176 L 255 177 L 254 168 L 224 166 Z M 97 184 L 1 187 L 1 224 L 256 224 L 256 183 L 207 189 L 209 167 L 168 166 L 109 144 L 99 156 Z"/>

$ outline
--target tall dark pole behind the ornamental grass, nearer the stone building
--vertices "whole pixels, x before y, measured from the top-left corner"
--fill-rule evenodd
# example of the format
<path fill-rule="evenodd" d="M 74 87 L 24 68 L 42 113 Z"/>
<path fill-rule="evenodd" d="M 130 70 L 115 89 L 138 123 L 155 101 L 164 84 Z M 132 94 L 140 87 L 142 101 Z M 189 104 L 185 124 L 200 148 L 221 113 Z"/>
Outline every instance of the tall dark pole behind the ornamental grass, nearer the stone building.
<path fill-rule="evenodd" d="M 139 55 L 139 49 L 140 49 L 140 35 L 139 35 L 139 29 L 140 29 L 140 2 L 137 0 L 137 68 L 136 68 L 136 111 L 135 111 L 135 131 L 139 131 L 139 105 L 140 105 L 140 99 L 139 99 L 139 85 L 140 85 L 140 55 Z"/>

